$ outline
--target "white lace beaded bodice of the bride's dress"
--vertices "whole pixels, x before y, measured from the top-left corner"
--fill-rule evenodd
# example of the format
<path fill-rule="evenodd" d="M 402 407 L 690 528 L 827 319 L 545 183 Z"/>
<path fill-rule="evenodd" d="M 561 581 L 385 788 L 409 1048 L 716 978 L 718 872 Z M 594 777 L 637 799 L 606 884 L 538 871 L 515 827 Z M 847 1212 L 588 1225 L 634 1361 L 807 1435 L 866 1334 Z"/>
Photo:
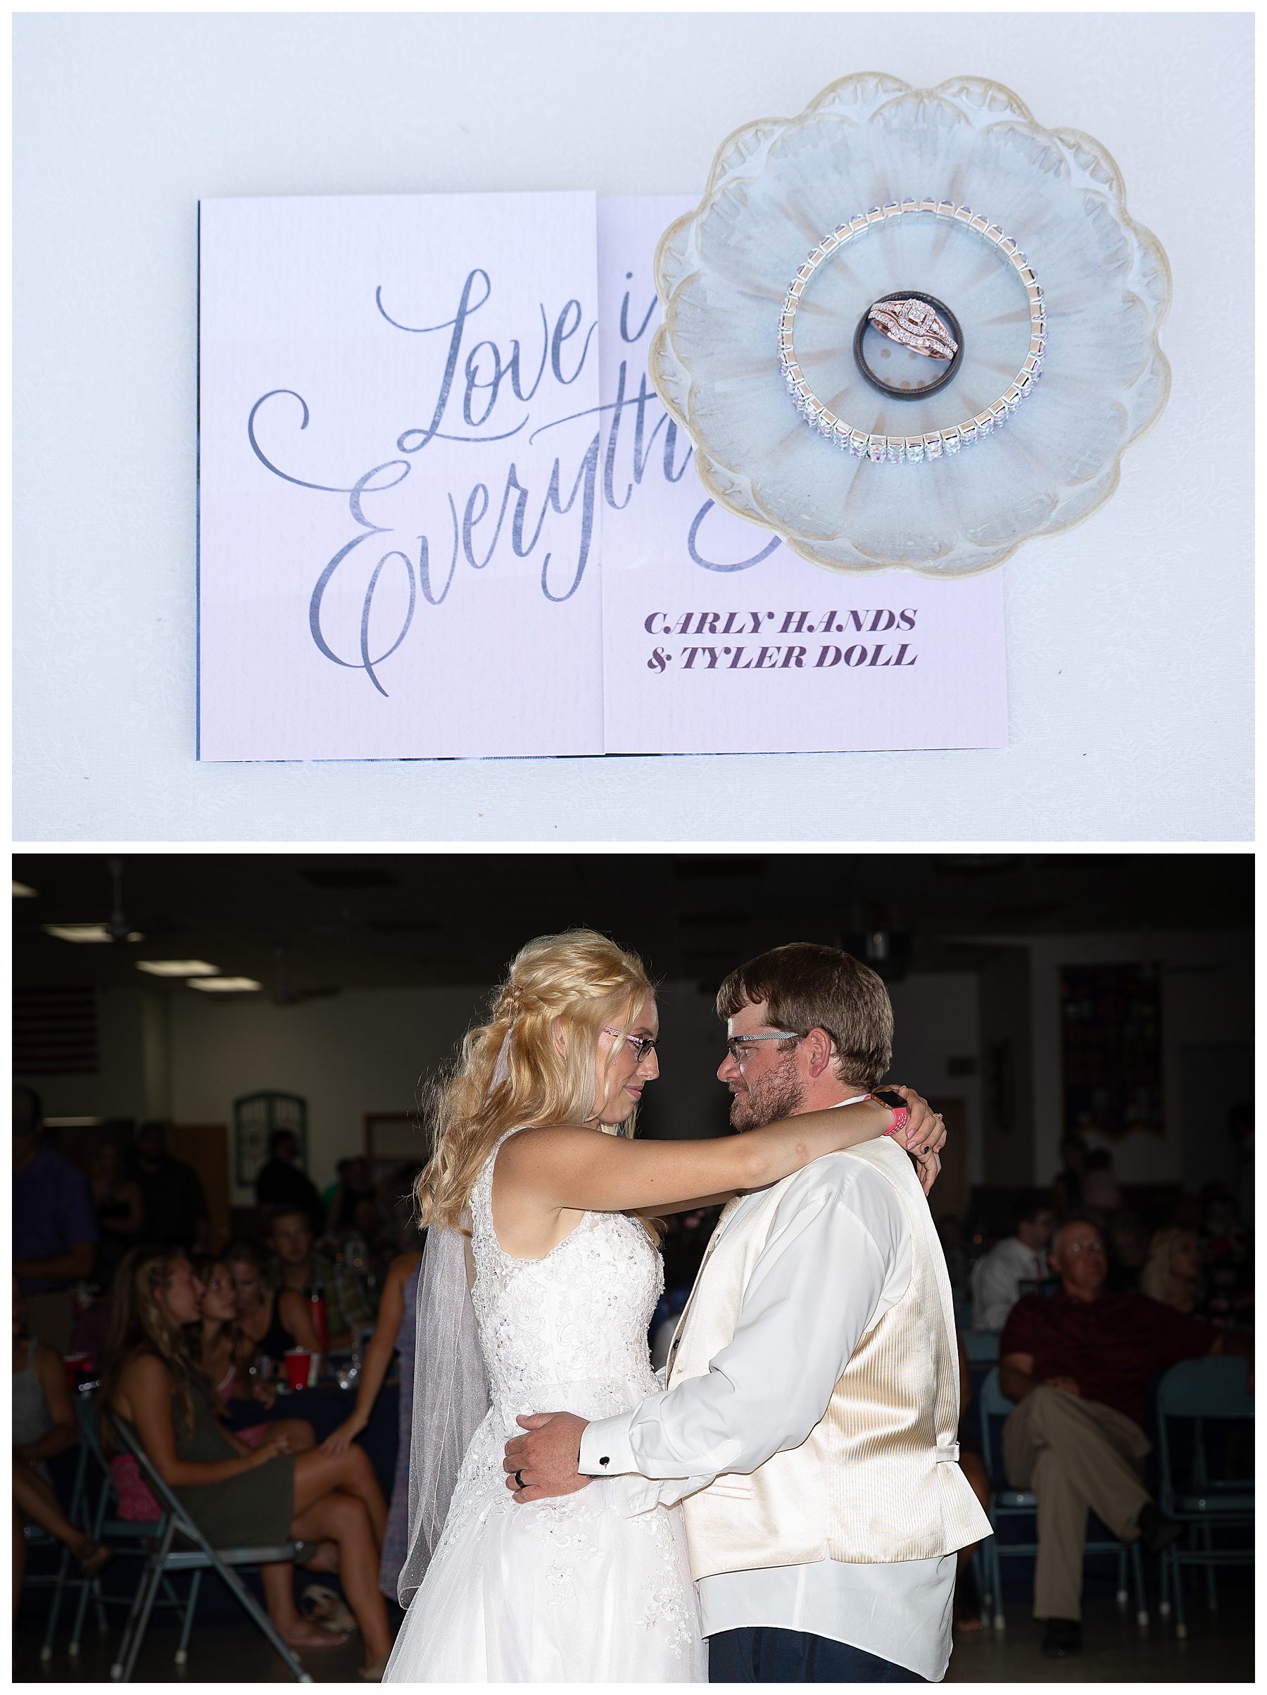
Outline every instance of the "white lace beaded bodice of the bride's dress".
<path fill-rule="evenodd" d="M 493 1166 L 506 1136 L 471 1188 L 471 1298 L 498 1422 L 627 1412 L 657 1387 L 647 1325 L 664 1288 L 661 1256 L 637 1219 L 586 1212 L 542 1259 L 512 1258 L 493 1229 Z"/>

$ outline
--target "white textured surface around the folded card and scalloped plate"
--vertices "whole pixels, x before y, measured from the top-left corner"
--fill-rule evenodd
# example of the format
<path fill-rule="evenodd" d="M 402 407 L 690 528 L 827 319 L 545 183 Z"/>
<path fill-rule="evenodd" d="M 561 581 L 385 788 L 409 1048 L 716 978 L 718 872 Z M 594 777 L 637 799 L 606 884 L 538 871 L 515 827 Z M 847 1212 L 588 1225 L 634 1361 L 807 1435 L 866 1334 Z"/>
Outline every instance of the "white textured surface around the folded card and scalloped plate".
<path fill-rule="evenodd" d="M 1248 837 L 1252 32 L 1179 12 L 19 15 L 15 834 Z M 993 76 L 1089 131 L 1174 266 L 1167 414 L 1108 507 L 1004 566 L 1011 746 L 196 766 L 198 197 L 694 192 L 732 129 L 862 69 Z"/>

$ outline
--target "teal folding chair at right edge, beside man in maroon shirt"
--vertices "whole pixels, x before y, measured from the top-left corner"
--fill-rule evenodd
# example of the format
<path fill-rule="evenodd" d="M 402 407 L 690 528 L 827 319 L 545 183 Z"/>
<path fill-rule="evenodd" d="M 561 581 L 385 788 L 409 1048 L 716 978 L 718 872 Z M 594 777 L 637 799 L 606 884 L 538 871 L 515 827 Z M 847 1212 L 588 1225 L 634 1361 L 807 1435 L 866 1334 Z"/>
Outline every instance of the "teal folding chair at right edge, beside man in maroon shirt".
<path fill-rule="evenodd" d="M 1176 1480 L 1172 1456 L 1172 1419 L 1192 1422 L 1192 1470 Z M 1218 1566 L 1252 1566 L 1253 1546 L 1214 1548 L 1214 1532 L 1253 1529 L 1253 1478 L 1209 1476 L 1206 1425 L 1211 1419 L 1253 1419 L 1253 1395 L 1248 1390 L 1248 1361 L 1216 1358 L 1184 1359 L 1170 1366 L 1157 1385 L 1157 1458 L 1162 1470 L 1159 1505 L 1184 1527 L 1184 1536 L 1162 1553 L 1162 1614 L 1174 1597 L 1174 1634 L 1187 1636 L 1184 1619 L 1184 1566 L 1204 1566 L 1206 1602 L 1218 1609 L 1214 1570 Z"/>

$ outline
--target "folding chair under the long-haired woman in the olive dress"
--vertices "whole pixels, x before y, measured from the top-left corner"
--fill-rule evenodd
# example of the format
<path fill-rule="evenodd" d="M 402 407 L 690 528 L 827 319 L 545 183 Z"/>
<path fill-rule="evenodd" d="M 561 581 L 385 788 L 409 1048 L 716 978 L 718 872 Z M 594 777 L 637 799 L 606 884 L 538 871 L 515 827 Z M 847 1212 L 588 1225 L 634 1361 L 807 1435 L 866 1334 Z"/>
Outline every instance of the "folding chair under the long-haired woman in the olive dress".
<path fill-rule="evenodd" d="M 132 1602 L 132 1612 L 124 1631 L 124 1641 L 119 1644 L 119 1654 L 110 1666 L 110 1676 L 119 1683 L 130 1683 L 137 1656 L 141 1654 L 141 1644 L 144 1642 L 146 1631 L 149 1629 L 149 1617 L 154 1610 L 159 1585 L 171 1571 L 191 1573 L 190 1595 L 185 1602 L 185 1622 L 181 1627 L 180 1648 L 176 1649 L 176 1664 L 185 1664 L 188 1661 L 190 1631 L 193 1629 L 193 1614 L 198 1605 L 198 1583 L 202 1581 L 202 1573 L 217 1571 L 224 1578 L 230 1595 L 242 1605 L 252 1624 L 259 1626 L 269 1644 L 281 1654 L 296 1681 L 312 1683 L 312 1676 L 303 1670 L 286 1639 L 281 1636 L 251 1590 L 242 1583 L 235 1570 L 239 1566 L 251 1568 L 293 1561 L 300 1553 L 300 1544 L 281 1542 L 276 1548 L 212 1548 L 186 1509 L 176 1498 L 173 1490 L 168 1488 L 166 1481 L 151 1463 L 149 1454 L 141 1446 L 141 1437 L 132 1424 L 115 1414 L 113 1427 L 122 1446 L 136 1456 L 136 1461 L 141 1466 L 141 1475 L 149 1485 L 154 1500 L 163 1509 L 163 1517 L 151 1527 L 149 1532 L 154 1537 L 154 1546 L 146 1556 L 146 1566 Z M 180 1536 L 185 1542 L 191 1542 L 193 1548 L 176 1548 L 176 1536 Z"/>

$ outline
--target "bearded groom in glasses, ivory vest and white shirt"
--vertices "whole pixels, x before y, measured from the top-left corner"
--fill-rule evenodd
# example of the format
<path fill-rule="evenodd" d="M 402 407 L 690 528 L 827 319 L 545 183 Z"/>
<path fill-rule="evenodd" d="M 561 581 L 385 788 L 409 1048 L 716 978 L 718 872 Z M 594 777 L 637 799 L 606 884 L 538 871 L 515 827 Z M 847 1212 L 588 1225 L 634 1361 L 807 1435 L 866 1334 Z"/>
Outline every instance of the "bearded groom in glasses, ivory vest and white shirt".
<path fill-rule="evenodd" d="M 835 948 L 761 954 L 716 1010 L 737 1131 L 842 1107 L 888 1071 L 889 997 Z M 647 1480 L 635 1510 L 683 1500 L 713 1683 L 938 1681 L 955 1551 L 989 1534 L 957 1422 L 945 1261 L 881 1137 L 732 1200 L 666 1388 L 593 1424 L 520 1419 L 505 1468 L 522 1502 L 618 1473 Z"/>

